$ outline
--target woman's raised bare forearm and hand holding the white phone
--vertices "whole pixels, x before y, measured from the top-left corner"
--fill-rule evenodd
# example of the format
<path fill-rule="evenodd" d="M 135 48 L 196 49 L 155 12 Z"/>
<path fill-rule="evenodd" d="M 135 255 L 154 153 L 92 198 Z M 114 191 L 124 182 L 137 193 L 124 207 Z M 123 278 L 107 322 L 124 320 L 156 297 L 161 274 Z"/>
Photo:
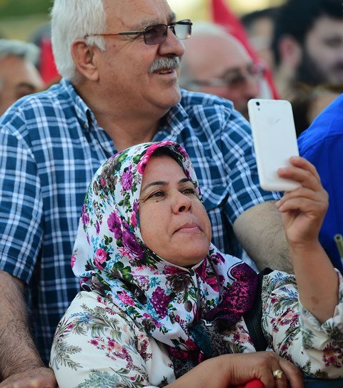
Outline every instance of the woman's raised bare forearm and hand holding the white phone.
<path fill-rule="evenodd" d="M 285 193 L 276 206 L 289 242 L 299 300 L 319 322 L 325 322 L 334 315 L 339 287 L 337 273 L 318 240 L 328 197 L 314 165 L 296 157 L 291 163 L 279 175 L 297 180 L 301 187 Z"/>

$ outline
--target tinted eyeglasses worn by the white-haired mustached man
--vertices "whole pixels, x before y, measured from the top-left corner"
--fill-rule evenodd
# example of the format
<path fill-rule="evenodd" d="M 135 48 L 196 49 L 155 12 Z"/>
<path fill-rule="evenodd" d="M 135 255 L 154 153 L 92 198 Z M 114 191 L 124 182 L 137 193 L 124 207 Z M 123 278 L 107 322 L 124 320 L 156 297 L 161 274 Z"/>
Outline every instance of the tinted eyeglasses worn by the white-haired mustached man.
<path fill-rule="evenodd" d="M 147 26 L 141 31 L 104 32 L 102 34 L 91 34 L 88 36 L 121 36 L 121 35 L 143 35 L 145 44 L 161 44 L 166 40 L 168 29 L 171 29 L 179 39 L 188 39 L 192 34 L 192 21 L 189 19 L 180 20 L 172 24 L 154 24 Z"/>

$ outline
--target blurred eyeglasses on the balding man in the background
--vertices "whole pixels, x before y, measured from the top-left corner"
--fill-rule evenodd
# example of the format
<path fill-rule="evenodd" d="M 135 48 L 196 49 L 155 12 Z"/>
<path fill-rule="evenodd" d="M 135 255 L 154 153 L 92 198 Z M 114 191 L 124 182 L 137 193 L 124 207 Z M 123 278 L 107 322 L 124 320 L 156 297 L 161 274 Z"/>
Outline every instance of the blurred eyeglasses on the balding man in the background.
<path fill-rule="evenodd" d="M 205 80 L 192 80 L 199 86 L 227 86 L 228 88 L 241 88 L 249 79 L 259 81 L 266 72 L 264 66 L 251 64 L 244 70 L 229 70 L 222 78 L 209 78 Z"/>

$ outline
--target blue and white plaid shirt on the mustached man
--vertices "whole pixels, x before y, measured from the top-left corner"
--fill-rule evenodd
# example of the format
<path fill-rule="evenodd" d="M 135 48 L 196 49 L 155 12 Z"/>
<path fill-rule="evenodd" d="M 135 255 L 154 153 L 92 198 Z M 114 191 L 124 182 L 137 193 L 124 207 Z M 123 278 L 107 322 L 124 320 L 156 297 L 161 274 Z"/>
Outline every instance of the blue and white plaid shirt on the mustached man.
<path fill-rule="evenodd" d="M 217 247 L 239 255 L 234 220 L 277 199 L 259 188 L 247 121 L 232 103 L 182 91 L 154 141 L 188 151 Z M 27 96 L 0 120 L 0 269 L 27 285 L 36 343 L 45 361 L 52 337 L 79 290 L 70 257 L 87 186 L 114 143 L 71 83 Z"/>

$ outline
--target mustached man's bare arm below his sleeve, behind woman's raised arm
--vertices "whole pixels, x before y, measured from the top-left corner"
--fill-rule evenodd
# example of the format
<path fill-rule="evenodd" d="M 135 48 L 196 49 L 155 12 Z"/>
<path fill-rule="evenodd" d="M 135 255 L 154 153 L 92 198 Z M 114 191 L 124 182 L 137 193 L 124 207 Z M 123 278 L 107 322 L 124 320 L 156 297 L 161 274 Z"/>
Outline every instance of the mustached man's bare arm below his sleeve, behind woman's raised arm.
<path fill-rule="evenodd" d="M 269 267 L 293 273 L 282 218 L 274 201 L 255 205 L 239 215 L 234 233 L 259 270 Z"/>

